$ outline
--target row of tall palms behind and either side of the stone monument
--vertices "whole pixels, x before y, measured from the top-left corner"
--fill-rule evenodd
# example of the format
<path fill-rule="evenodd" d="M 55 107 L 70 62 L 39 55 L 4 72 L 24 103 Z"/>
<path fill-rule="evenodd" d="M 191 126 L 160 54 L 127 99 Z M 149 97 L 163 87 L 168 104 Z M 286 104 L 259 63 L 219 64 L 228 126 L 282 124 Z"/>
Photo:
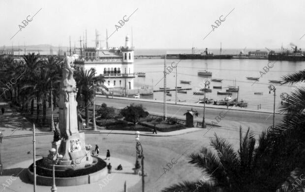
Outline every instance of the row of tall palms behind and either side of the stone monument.
<path fill-rule="evenodd" d="M 34 102 L 36 101 L 36 121 L 45 123 L 47 101 L 51 101 L 51 89 L 53 91 L 53 105 L 57 105 L 60 90 L 60 81 L 62 77 L 62 68 L 64 61 L 62 57 L 50 56 L 42 58 L 34 53 L 23 55 L 23 60 L 14 60 L 10 57 L 0 59 L 2 64 L 0 68 L 0 87 L 7 91 L 1 92 L 2 97 L 11 100 L 12 103 L 21 107 L 22 110 L 28 110 L 30 105 L 30 114 L 34 111 Z M 20 74 L 22 74 L 20 76 Z M 7 88 L 7 82 L 16 79 L 10 89 Z M 89 126 L 89 104 L 93 97 L 92 82 L 98 87 L 105 88 L 103 76 L 95 76 L 93 69 L 85 70 L 82 67 L 75 67 L 74 79 L 76 80 L 78 93 L 77 100 L 85 103 L 86 124 Z M 14 82 L 14 81 L 13 81 Z M 3 88 L 2 88 L 3 89 Z M 49 102 L 50 103 L 50 102 Z M 49 104 L 50 106 L 51 104 Z M 42 106 L 42 118 L 40 117 L 40 107 Z"/>

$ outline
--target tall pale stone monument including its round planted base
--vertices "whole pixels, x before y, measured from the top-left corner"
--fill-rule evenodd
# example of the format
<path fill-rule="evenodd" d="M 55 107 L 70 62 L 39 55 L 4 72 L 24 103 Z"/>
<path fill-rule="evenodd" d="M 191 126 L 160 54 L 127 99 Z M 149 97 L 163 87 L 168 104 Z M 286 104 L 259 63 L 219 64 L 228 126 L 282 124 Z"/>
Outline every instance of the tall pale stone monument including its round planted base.
<path fill-rule="evenodd" d="M 106 163 L 91 156 L 91 145 L 85 144 L 85 134 L 78 132 L 76 82 L 73 79 L 72 60 L 65 57 L 60 82 L 59 122 L 54 130 L 52 149 L 49 155 L 36 161 L 37 184 L 71 186 L 96 182 L 105 177 Z M 33 164 L 28 169 L 33 178 Z"/>

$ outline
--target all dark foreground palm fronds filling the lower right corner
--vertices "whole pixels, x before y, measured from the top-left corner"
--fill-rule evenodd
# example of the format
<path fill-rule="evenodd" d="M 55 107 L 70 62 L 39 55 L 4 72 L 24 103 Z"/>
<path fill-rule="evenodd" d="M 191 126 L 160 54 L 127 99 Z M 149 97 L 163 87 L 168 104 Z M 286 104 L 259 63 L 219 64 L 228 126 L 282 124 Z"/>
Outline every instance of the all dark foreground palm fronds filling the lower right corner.
<path fill-rule="evenodd" d="M 305 82 L 305 70 L 283 76 L 283 83 Z M 212 148 L 190 154 L 189 163 L 203 177 L 183 181 L 162 192 L 303 192 L 305 186 L 305 88 L 297 87 L 283 102 L 282 122 L 256 140 L 240 128 L 235 151 L 225 138 L 211 138 Z M 208 179 L 202 179 L 208 178 Z M 300 178 L 303 178 L 300 179 Z M 195 179 L 195 180 L 194 180 Z"/>

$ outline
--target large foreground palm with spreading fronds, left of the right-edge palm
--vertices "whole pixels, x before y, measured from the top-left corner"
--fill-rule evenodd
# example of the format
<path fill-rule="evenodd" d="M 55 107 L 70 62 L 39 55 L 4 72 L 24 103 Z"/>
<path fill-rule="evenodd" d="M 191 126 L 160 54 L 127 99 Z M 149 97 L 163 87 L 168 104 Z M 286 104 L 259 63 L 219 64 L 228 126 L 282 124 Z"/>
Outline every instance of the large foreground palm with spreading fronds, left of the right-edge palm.
<path fill-rule="evenodd" d="M 215 134 L 210 139 L 214 150 L 202 147 L 199 153 L 189 155 L 189 163 L 199 167 L 203 177 L 173 185 L 162 192 L 276 192 L 292 189 L 292 182 L 287 179 L 294 169 L 287 162 L 292 157 L 281 157 L 282 153 L 276 153 L 279 148 L 270 149 L 271 132 L 264 131 L 255 144 L 256 139 L 249 129 L 243 137 L 240 128 L 238 152 Z"/>

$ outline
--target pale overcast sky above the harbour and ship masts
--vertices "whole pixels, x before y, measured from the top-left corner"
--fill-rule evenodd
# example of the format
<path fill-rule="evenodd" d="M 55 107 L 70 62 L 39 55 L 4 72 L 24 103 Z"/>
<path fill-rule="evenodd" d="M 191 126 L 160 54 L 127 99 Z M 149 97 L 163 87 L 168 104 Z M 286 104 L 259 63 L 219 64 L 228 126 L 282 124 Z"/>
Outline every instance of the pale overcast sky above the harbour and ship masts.
<path fill-rule="evenodd" d="M 95 28 L 100 39 L 116 30 L 115 25 L 130 16 L 110 38 L 109 45 L 122 46 L 126 34 L 136 48 L 290 48 L 305 50 L 305 0 L 1 0 L 0 46 L 51 44 L 68 46 L 71 35 L 79 38 L 87 29 L 88 46 L 94 46 Z M 41 10 L 40 10 L 41 9 Z M 233 10 L 234 9 L 234 10 Z M 28 26 L 18 25 L 36 16 Z M 226 16 L 212 30 L 215 20 Z M 125 17 L 126 18 L 126 17 Z M 223 17 L 221 17 L 223 20 Z M 30 18 L 29 18 L 30 19 Z M 216 26 L 216 25 L 215 25 Z M 105 42 L 101 42 L 103 47 Z"/>

